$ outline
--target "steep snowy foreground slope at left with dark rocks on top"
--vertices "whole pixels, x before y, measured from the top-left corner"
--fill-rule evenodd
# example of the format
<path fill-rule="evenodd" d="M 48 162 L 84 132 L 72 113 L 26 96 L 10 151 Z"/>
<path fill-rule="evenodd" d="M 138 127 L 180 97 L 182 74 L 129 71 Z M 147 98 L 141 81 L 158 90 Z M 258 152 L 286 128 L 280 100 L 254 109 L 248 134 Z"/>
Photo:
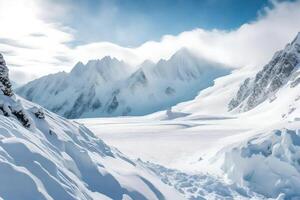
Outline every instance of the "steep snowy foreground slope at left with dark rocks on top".
<path fill-rule="evenodd" d="M 0 199 L 183 199 L 83 125 L 16 96 L 1 54 L 0 93 Z"/>

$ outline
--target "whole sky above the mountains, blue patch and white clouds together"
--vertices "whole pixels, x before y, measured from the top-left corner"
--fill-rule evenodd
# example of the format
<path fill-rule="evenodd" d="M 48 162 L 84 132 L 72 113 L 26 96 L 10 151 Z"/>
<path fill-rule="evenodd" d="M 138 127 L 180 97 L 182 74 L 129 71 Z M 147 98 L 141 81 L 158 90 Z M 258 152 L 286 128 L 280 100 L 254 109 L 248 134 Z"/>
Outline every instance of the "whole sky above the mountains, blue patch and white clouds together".
<path fill-rule="evenodd" d="M 0 53 L 15 82 L 104 56 L 133 66 L 180 48 L 262 67 L 300 31 L 300 0 L 0 0 Z"/>

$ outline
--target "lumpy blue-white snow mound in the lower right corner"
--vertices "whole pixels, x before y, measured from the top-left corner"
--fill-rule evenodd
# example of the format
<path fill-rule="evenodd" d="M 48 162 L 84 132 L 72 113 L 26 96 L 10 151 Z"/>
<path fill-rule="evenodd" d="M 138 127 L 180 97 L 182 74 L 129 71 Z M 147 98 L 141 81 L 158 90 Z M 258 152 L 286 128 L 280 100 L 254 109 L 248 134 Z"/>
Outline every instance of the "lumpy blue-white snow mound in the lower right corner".
<path fill-rule="evenodd" d="M 257 134 L 242 144 L 227 147 L 221 153 L 224 155 L 221 159 L 222 169 L 236 184 L 265 197 L 298 199 L 299 152 L 298 129 L 274 130 Z"/>

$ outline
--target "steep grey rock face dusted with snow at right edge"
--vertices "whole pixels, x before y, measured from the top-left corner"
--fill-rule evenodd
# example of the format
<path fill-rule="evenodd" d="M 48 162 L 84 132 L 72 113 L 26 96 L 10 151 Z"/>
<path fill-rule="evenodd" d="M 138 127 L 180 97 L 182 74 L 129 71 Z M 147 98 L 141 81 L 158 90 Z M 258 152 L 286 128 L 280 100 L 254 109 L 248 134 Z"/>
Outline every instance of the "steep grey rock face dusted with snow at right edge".
<path fill-rule="evenodd" d="M 300 33 L 292 43 L 275 53 L 272 60 L 255 77 L 247 78 L 243 82 L 236 97 L 230 101 L 229 110 L 238 108 L 239 111 L 248 111 L 274 95 L 296 73 L 299 63 Z"/>

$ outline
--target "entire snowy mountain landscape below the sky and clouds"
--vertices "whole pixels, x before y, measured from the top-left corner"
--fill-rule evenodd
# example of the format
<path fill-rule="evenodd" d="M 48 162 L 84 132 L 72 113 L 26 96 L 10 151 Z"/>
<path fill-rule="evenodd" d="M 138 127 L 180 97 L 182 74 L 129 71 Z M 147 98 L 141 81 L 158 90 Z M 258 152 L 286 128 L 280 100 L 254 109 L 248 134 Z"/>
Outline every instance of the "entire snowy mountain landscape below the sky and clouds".
<path fill-rule="evenodd" d="M 299 63 L 300 34 L 261 68 L 228 74 L 182 49 L 137 68 L 110 57 L 78 63 L 18 89 L 69 118 L 168 102 L 141 117 L 71 121 L 16 95 L 0 54 L 0 199 L 299 199 Z M 166 100 L 194 87 L 193 100 Z"/>

